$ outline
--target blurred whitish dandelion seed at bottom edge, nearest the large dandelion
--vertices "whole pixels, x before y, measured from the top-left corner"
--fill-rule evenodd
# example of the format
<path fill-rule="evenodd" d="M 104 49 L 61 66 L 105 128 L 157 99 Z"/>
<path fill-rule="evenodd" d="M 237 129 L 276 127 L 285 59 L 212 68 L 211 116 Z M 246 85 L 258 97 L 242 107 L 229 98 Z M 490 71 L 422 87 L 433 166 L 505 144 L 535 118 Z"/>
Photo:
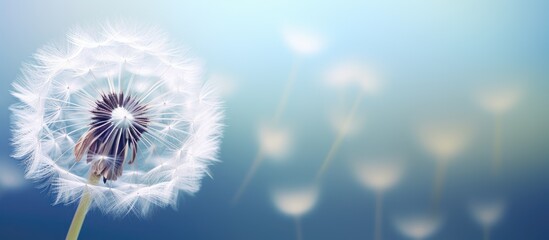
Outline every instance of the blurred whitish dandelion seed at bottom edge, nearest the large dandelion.
<path fill-rule="evenodd" d="M 284 214 L 294 218 L 297 239 L 303 239 L 301 217 L 316 204 L 318 189 L 314 186 L 277 189 L 273 191 L 273 202 Z"/>

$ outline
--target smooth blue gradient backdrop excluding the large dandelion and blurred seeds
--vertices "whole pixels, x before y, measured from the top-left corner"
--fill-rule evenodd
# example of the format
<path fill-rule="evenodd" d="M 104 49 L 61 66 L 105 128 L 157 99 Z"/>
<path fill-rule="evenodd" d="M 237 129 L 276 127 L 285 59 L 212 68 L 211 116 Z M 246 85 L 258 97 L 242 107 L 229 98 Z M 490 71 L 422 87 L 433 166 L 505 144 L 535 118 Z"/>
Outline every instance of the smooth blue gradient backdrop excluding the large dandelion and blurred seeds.
<path fill-rule="evenodd" d="M 385 239 L 404 239 L 393 219 L 426 208 L 434 164 L 413 129 L 424 116 L 456 110 L 474 122 L 467 150 L 452 162 L 442 200 L 444 224 L 432 239 L 480 239 L 467 203 L 495 192 L 508 202 L 493 239 L 549 239 L 549 2 L 503 1 L 5 1 L 0 2 L 0 161 L 11 161 L 11 82 L 21 63 L 45 43 L 63 40 L 76 24 L 130 19 L 159 26 L 191 47 L 208 73 L 233 76 L 226 99 L 222 163 L 178 209 L 156 209 L 142 219 L 89 213 L 82 239 L 294 239 L 292 219 L 270 199 L 285 179 L 306 180 L 335 138 L 327 114 L 337 93 L 322 74 L 348 56 L 367 59 L 384 73 L 380 94 L 366 97 L 366 121 L 346 139 L 328 170 L 316 207 L 302 220 L 305 239 L 370 239 L 374 195 L 349 170 L 357 156 L 406 156 L 404 181 L 384 203 Z M 296 56 L 281 27 L 308 26 L 327 39 L 323 51 L 302 59 L 283 123 L 294 131 L 282 162 L 262 164 L 241 202 L 231 198 L 258 143 L 256 130 L 272 117 Z M 525 95 L 504 117 L 504 174 L 490 182 L 493 118 L 474 102 L 482 76 L 524 76 Z M 349 97 L 353 96 L 353 92 Z M 20 168 L 22 169 L 22 167 Z M 75 205 L 52 206 L 54 196 L 27 183 L 0 195 L 0 239 L 62 239 Z"/>

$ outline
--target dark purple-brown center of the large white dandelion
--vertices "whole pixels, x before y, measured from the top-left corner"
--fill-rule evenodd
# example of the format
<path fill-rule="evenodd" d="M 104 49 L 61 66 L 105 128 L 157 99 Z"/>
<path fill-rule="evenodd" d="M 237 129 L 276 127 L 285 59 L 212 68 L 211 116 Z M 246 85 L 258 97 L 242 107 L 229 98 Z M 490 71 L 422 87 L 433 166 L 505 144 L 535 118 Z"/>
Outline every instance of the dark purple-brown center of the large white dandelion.
<path fill-rule="evenodd" d="M 123 92 L 109 93 L 101 95 L 91 113 L 90 128 L 74 149 L 76 161 L 86 153 L 92 174 L 102 176 L 103 182 L 116 180 L 130 149 L 128 163 L 137 157 L 137 144 L 150 121 L 148 107 Z"/>

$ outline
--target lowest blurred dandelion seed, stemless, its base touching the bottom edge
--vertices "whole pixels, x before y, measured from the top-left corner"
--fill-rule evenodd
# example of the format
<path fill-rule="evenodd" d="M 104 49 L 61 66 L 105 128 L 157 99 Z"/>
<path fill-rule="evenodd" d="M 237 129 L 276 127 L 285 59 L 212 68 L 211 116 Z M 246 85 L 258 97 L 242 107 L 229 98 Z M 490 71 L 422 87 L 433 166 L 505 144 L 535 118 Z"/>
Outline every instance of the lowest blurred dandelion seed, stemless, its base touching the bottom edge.
<path fill-rule="evenodd" d="M 415 240 L 423 240 L 432 236 L 440 227 L 441 221 L 439 218 L 431 215 L 417 215 L 396 220 L 398 231 Z"/>

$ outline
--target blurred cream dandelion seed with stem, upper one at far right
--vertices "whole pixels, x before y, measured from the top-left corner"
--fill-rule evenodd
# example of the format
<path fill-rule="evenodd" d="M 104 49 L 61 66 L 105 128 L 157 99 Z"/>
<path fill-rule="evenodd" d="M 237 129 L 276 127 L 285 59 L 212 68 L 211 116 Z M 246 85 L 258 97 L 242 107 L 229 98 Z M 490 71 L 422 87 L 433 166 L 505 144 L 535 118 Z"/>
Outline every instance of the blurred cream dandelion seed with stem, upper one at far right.
<path fill-rule="evenodd" d="M 522 88 L 519 86 L 498 82 L 492 88 L 479 91 L 477 100 L 479 104 L 495 118 L 492 171 L 499 173 L 501 168 L 501 132 L 502 118 L 520 100 Z"/>

